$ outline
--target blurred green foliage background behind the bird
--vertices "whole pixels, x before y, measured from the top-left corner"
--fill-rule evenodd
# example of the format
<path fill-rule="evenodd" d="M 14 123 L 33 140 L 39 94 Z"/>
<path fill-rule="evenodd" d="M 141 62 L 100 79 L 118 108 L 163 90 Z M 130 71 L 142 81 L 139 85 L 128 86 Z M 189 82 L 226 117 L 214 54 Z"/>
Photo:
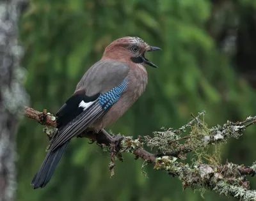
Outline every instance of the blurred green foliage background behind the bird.
<path fill-rule="evenodd" d="M 250 29 L 250 22 L 256 21 L 255 2 L 31 0 L 20 20 L 31 107 L 55 113 L 111 41 L 139 36 L 163 49 L 147 54 L 159 69 L 147 68 L 145 94 L 109 129 L 136 137 L 162 126 L 182 126 L 190 112 L 206 110 L 209 126 L 255 115 L 256 93 L 242 76 L 255 59 Z M 225 51 L 223 33 L 233 28 L 238 30 L 237 41 Z M 255 127 L 239 140 L 230 140 L 221 149 L 223 163 L 228 158 L 250 165 L 256 158 L 255 140 Z M 17 135 L 17 200 L 203 200 L 200 193 L 182 191 L 177 178 L 151 166 L 146 179 L 142 161 L 134 161 L 131 154 L 116 163 L 110 179 L 109 155 L 87 142 L 72 140 L 51 182 L 33 190 L 30 181 L 44 160 L 48 140 L 42 126 L 23 119 Z M 251 186 L 256 188 L 253 179 Z M 204 197 L 227 199 L 208 191 Z"/>

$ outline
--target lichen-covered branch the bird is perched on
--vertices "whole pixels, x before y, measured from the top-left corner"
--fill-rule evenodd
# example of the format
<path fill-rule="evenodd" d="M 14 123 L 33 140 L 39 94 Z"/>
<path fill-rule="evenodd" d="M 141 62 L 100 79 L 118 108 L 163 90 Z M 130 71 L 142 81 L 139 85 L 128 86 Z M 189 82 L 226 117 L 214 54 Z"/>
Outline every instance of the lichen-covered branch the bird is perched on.
<path fill-rule="evenodd" d="M 256 117 L 248 117 L 245 121 L 237 123 L 227 121 L 223 126 L 207 128 L 204 121 L 200 119 L 204 114 L 203 111 L 197 117 L 192 115 L 193 119 L 177 130 L 169 128 L 156 131 L 154 137 L 139 136 L 137 139 L 132 139 L 132 137 L 124 136 L 116 158 L 120 159 L 120 154 L 124 152 L 132 153 L 136 159 L 141 158 L 146 163 L 152 163 L 154 169 L 164 170 L 173 177 L 179 177 L 184 189 L 207 189 L 239 200 L 256 200 L 256 191 L 250 190 L 250 183 L 246 179 L 248 175 L 255 175 L 256 163 L 250 167 L 229 162 L 221 165 L 216 156 L 218 153 L 207 153 L 210 145 L 222 144 L 228 138 L 239 138 L 242 131 L 255 123 Z M 29 107 L 25 108 L 25 115 L 47 126 L 44 131 L 51 138 L 51 128 L 56 127 L 56 118 L 53 115 L 47 113 L 46 110 L 38 112 Z M 188 128 L 191 130 L 189 134 L 186 137 L 180 137 Z M 99 145 L 103 150 L 111 150 L 111 144 L 100 133 L 95 135 L 92 132 L 84 132 L 79 137 L 89 138 L 97 141 L 98 144 L 100 142 Z M 185 142 L 181 144 L 180 140 L 185 140 Z M 157 153 L 149 153 L 143 148 L 144 145 L 152 149 L 157 148 Z M 186 154 L 190 152 L 194 153 L 192 164 L 184 162 Z M 208 163 L 205 163 L 205 158 Z M 113 175 L 114 166 L 111 161 L 109 164 L 111 175 Z"/>

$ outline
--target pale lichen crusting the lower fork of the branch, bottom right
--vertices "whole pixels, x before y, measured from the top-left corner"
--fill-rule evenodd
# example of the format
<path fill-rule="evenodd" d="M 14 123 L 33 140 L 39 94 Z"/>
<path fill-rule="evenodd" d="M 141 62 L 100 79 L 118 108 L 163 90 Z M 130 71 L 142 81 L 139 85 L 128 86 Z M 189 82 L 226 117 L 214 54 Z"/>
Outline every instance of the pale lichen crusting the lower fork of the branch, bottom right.
<path fill-rule="evenodd" d="M 204 191 L 209 189 L 217 191 L 220 195 L 229 195 L 245 201 L 255 200 L 255 191 L 241 185 L 244 177 L 239 173 L 238 167 L 238 165 L 227 163 L 223 170 L 225 173 L 221 173 L 217 167 L 211 165 L 200 164 L 192 168 L 186 163 L 180 163 L 175 157 L 163 156 L 156 158 L 154 168 L 178 175 L 183 188 L 199 190 L 202 196 Z"/>

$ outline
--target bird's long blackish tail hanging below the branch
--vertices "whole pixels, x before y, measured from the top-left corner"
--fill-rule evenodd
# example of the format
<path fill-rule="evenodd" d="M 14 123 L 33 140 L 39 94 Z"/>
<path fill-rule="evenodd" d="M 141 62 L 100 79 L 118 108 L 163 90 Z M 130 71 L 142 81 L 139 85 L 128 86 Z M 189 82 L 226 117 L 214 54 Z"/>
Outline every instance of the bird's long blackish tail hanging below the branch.
<path fill-rule="evenodd" d="M 69 142 L 70 140 L 54 149 L 54 151 L 49 151 L 47 153 L 40 169 L 36 172 L 36 175 L 31 181 L 31 185 L 34 186 L 34 189 L 44 188 L 44 186 L 50 181 Z"/>

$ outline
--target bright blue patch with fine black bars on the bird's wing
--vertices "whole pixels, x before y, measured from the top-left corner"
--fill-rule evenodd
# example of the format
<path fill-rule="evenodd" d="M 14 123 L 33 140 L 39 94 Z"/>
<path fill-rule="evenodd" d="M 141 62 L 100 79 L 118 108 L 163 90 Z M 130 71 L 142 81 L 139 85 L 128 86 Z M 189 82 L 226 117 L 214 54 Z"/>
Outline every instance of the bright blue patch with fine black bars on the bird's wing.
<path fill-rule="evenodd" d="M 119 100 L 122 93 L 124 93 L 127 87 L 127 83 L 128 78 L 125 77 L 124 81 L 120 85 L 114 87 L 111 91 L 100 95 L 99 103 L 104 110 L 106 110 L 108 107 L 110 107 Z"/>

